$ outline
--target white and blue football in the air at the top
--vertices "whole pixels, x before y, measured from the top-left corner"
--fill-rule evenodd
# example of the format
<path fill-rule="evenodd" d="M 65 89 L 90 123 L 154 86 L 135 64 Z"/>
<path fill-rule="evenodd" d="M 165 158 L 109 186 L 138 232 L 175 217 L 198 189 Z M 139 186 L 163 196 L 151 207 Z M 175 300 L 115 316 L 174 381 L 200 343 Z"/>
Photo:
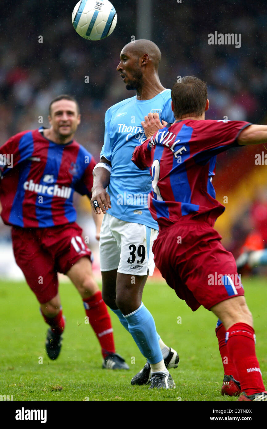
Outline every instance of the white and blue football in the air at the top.
<path fill-rule="evenodd" d="M 81 0 L 73 9 L 72 24 L 84 39 L 105 39 L 116 27 L 117 13 L 108 0 Z"/>

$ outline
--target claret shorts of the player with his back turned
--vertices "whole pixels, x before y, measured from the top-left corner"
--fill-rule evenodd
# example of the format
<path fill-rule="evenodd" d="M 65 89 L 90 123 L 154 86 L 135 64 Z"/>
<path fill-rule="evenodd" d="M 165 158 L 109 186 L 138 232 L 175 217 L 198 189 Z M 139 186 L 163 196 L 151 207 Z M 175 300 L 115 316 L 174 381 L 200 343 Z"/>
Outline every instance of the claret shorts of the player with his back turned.
<path fill-rule="evenodd" d="M 233 255 L 207 222 L 177 222 L 162 230 L 153 244 L 156 266 L 167 284 L 197 310 L 244 295 Z"/>

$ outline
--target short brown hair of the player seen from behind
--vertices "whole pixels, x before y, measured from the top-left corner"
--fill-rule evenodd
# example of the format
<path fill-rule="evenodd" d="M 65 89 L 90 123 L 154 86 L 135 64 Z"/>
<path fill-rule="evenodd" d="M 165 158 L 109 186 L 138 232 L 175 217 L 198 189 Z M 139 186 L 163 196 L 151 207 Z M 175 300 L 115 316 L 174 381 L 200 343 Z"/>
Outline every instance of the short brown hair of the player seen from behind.
<path fill-rule="evenodd" d="M 201 116 L 207 103 L 207 85 L 195 76 L 184 76 L 181 82 L 175 82 L 171 89 L 171 100 L 176 119 L 194 113 Z"/>

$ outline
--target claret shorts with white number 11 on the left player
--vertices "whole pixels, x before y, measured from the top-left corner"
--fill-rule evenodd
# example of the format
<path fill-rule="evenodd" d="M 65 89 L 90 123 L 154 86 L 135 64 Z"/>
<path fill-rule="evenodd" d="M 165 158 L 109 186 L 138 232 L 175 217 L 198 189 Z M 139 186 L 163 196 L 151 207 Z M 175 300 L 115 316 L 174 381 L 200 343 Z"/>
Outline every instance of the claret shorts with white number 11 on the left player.
<path fill-rule="evenodd" d="M 84 256 L 92 262 L 81 234 L 75 222 L 50 228 L 12 227 L 16 263 L 41 304 L 57 295 L 57 272 L 66 274 Z"/>

